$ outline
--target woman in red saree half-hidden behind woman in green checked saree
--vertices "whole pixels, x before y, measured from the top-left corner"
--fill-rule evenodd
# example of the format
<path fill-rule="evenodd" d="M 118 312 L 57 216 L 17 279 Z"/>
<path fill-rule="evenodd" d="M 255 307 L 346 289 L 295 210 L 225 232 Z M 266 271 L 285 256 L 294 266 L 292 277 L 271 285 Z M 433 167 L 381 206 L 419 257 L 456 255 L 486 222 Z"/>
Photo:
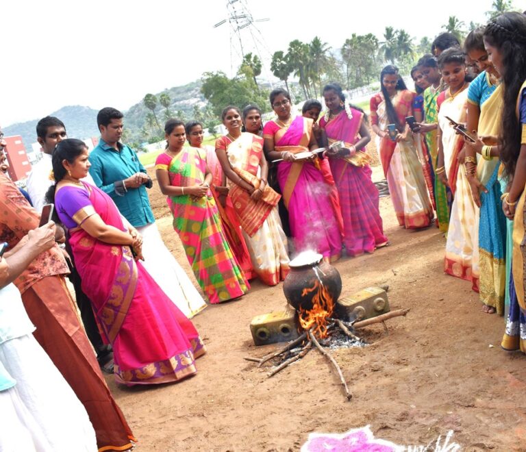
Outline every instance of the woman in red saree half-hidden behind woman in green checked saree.
<path fill-rule="evenodd" d="M 199 121 L 188 121 L 184 126 L 184 130 L 191 147 L 197 147 L 206 151 L 206 165 L 212 173 L 210 191 L 216 201 L 217 210 L 221 217 L 221 229 L 223 229 L 223 234 L 225 234 L 232 253 L 238 260 L 239 268 L 245 273 L 245 278 L 252 279 L 255 277 L 255 273 L 252 268 L 249 249 L 245 238 L 241 234 L 241 225 L 234 212 L 232 200 L 228 196 L 226 178 L 217 159 L 216 149 L 210 145 L 203 145 L 203 125 Z M 218 143 L 227 139 L 226 136 L 218 138 L 216 147 Z"/>

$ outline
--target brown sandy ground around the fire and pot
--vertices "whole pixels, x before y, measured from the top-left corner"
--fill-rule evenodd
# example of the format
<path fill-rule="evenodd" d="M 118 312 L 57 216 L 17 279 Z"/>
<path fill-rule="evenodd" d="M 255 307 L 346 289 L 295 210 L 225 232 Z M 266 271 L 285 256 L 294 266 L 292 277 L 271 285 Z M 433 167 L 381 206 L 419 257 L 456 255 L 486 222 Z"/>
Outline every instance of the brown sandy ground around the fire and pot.
<path fill-rule="evenodd" d="M 191 275 L 154 185 L 162 236 Z M 122 388 L 107 377 L 139 439 L 136 450 L 298 451 L 310 432 L 370 424 L 377 437 L 398 444 L 427 444 L 453 429 L 465 451 L 526 451 L 526 357 L 501 350 L 503 318 L 481 312 L 470 285 L 442 273 L 438 229 L 400 229 L 390 199 L 380 205 L 391 245 L 335 264 L 342 296 L 388 284 L 391 309 L 411 311 L 388 321 L 388 334 L 379 325 L 361 330 L 370 346 L 333 352 L 353 399 L 345 399 L 319 353 L 271 379 L 243 360 L 275 348 L 253 345 L 251 318 L 286 304 L 281 284 L 253 281 L 239 301 L 210 305 L 193 319 L 208 349 L 195 377 L 147 389 Z"/>

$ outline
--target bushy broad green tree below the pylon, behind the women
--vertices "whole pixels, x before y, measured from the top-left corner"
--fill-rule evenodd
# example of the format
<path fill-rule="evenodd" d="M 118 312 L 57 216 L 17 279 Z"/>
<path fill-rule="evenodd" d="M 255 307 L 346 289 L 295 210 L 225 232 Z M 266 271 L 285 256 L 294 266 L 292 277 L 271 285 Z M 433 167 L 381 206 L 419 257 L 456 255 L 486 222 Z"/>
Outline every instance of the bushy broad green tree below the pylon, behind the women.
<path fill-rule="evenodd" d="M 223 72 L 205 72 L 201 79 L 201 92 L 212 105 L 214 117 L 221 117 L 226 105 L 244 108 L 249 103 L 266 105 L 265 90 L 260 90 L 253 80 L 240 77 L 230 79 Z"/>

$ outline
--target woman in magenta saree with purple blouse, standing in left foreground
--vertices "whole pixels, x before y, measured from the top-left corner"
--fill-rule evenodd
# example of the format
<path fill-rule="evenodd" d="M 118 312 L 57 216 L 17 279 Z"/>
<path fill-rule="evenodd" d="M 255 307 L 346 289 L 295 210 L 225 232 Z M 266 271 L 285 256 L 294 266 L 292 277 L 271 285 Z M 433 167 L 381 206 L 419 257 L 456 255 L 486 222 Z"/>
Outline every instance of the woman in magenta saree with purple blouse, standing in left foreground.
<path fill-rule="evenodd" d="M 112 199 L 79 181 L 90 166 L 87 158 L 88 149 L 80 140 L 64 140 L 55 149 L 55 210 L 68 228 L 82 289 L 92 301 L 103 338 L 112 344 L 116 381 L 128 386 L 160 384 L 192 375 L 197 371 L 195 358 L 205 352 L 203 342 L 134 259 L 129 245 L 140 243 L 140 238 L 134 238 L 136 231 Z M 140 255 L 140 246 L 134 246 Z"/>

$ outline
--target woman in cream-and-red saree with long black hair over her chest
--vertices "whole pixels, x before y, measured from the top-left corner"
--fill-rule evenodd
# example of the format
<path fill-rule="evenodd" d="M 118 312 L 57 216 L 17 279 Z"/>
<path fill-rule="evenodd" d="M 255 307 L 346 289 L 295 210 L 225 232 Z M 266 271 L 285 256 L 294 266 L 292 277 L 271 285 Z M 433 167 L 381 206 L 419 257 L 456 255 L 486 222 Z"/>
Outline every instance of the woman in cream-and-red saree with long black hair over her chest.
<path fill-rule="evenodd" d="M 379 136 L 381 166 L 384 168 L 392 205 L 400 226 L 407 229 L 428 227 L 434 218 L 427 192 L 423 166 L 412 131 L 405 118 L 412 116 L 414 92 L 410 92 L 398 73 L 388 65 L 380 73 L 381 92 L 371 97 L 371 125 Z M 388 125 L 395 127 L 392 137 Z"/>

